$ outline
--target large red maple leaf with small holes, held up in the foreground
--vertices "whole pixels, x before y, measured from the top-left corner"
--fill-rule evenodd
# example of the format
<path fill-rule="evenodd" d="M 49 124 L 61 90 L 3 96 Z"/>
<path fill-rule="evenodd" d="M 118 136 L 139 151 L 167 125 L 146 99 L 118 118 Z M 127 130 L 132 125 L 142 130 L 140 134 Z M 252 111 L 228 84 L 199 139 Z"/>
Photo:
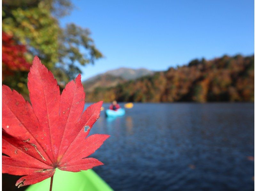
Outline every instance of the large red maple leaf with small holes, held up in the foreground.
<path fill-rule="evenodd" d="M 86 158 L 109 137 L 93 134 L 86 138 L 100 116 L 102 102 L 84 110 L 81 75 L 70 81 L 60 95 L 52 73 L 38 57 L 28 73 L 31 100 L 3 85 L 2 173 L 26 175 L 16 186 L 35 184 L 52 177 L 55 168 L 79 172 L 102 165 Z"/>

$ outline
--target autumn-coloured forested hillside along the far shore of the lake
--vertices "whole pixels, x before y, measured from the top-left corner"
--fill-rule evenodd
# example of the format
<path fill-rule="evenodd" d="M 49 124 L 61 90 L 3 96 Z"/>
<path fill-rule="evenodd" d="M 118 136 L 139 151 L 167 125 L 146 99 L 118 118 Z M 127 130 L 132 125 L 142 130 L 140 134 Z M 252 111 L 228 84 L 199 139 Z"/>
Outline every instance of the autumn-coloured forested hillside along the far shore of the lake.
<path fill-rule="evenodd" d="M 254 101 L 254 55 L 192 60 L 152 76 L 95 88 L 87 102 Z"/>

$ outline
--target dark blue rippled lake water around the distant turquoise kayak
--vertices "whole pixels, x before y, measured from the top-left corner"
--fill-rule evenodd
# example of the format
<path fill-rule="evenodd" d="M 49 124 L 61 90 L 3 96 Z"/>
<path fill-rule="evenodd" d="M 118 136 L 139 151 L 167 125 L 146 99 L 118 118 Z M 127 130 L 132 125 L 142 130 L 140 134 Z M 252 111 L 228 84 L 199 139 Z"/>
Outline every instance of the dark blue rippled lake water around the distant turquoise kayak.
<path fill-rule="evenodd" d="M 92 157 L 114 190 L 254 188 L 253 103 L 135 103 L 115 119 L 102 111 L 96 133 L 111 135 Z"/>

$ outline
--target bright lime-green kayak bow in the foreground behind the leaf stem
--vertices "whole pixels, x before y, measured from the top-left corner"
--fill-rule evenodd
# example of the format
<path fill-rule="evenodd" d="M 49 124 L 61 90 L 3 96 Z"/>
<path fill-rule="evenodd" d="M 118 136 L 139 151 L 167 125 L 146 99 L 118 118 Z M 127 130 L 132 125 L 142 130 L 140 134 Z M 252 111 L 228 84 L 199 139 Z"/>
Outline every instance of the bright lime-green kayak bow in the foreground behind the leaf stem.
<path fill-rule="evenodd" d="M 50 188 L 48 178 L 42 182 L 29 186 L 26 191 L 45 191 Z M 108 184 L 100 178 L 92 169 L 81 172 L 61 171 L 56 168 L 53 176 L 52 191 L 113 191 Z"/>

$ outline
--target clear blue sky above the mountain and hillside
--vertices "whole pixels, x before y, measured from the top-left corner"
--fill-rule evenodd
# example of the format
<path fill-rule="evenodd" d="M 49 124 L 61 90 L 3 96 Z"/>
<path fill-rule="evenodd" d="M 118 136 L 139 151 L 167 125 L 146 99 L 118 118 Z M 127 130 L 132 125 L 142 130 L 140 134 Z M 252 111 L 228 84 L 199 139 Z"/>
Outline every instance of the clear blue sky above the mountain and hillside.
<path fill-rule="evenodd" d="M 82 80 L 119 67 L 166 70 L 194 58 L 254 52 L 253 0 L 74 0 L 60 20 L 89 28 L 105 58 Z"/>

